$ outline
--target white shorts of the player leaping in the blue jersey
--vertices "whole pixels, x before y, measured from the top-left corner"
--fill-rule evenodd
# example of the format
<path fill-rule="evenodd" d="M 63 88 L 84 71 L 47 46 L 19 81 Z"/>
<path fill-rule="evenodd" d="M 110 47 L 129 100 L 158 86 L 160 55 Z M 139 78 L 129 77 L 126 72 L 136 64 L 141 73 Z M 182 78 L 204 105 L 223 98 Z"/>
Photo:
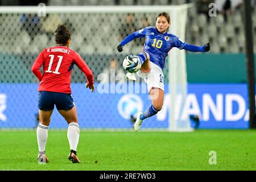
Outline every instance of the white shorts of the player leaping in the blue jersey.
<path fill-rule="evenodd" d="M 152 88 L 159 88 L 164 90 L 164 75 L 162 69 L 152 62 L 150 62 L 150 67 L 150 72 L 142 73 L 139 70 L 137 75 L 143 78 L 146 82 L 148 92 L 150 92 Z"/>

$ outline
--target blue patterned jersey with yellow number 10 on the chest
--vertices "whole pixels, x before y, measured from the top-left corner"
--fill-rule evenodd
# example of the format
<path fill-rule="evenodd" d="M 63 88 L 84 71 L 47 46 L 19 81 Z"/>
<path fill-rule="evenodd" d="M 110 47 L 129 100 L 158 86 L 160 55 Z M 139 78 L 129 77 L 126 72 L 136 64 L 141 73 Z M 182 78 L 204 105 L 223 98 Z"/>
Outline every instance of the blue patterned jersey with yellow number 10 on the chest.
<path fill-rule="evenodd" d="M 152 63 L 158 65 L 162 69 L 164 68 L 168 52 L 173 47 L 183 49 L 187 44 L 168 31 L 166 31 L 164 34 L 160 33 L 155 27 L 146 27 L 134 32 L 131 40 L 143 37 L 146 38 L 143 51 L 150 55 L 150 61 Z M 131 40 L 125 39 L 121 42 L 121 44 L 124 46 Z"/>

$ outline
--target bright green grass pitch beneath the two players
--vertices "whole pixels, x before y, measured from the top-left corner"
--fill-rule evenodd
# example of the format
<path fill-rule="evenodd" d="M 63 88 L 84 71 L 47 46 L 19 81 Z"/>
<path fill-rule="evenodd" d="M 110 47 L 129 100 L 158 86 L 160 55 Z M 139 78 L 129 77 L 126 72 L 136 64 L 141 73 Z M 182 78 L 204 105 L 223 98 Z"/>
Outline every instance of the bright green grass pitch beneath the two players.
<path fill-rule="evenodd" d="M 35 130 L 1 130 L 0 138 L 0 170 L 256 170 L 256 130 L 81 131 L 80 164 L 68 160 L 67 131 L 49 130 L 46 165 L 36 160 Z M 216 151 L 216 165 L 209 151 Z"/>

